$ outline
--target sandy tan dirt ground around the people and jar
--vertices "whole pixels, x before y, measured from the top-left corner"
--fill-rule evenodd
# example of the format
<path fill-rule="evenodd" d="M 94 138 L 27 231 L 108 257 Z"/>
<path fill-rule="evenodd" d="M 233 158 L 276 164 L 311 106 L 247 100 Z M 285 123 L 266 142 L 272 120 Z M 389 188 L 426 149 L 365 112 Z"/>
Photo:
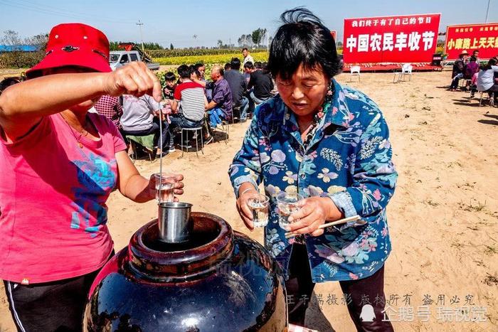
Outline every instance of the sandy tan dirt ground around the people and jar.
<path fill-rule="evenodd" d="M 399 172 L 388 205 L 393 251 L 385 281 L 394 328 L 498 331 L 498 108 L 478 107 L 468 93 L 446 91 L 447 72 L 414 73 L 410 82 L 400 83 L 392 82 L 391 73 L 361 74 L 361 82 L 348 79 L 347 74 L 338 77 L 366 92 L 383 110 Z M 182 201 L 220 215 L 261 242 L 263 233 L 249 232 L 238 218 L 226 173 L 247 127 L 248 122 L 231 126 L 230 139 L 209 144 L 199 158 L 191 152 L 182 159 L 176 151 L 164 165 L 184 174 Z M 159 169 L 159 162 L 136 165 L 144 176 Z M 120 193 L 112 194 L 108 206 L 117 250 L 157 213 L 154 202 L 130 203 Z M 0 331 L 15 331 L 3 289 L 0 293 Z M 330 301 L 334 295 L 338 304 Z M 420 308 L 424 299 L 433 301 L 427 306 L 429 316 Z M 355 331 L 337 282 L 317 285 L 307 326 Z"/>

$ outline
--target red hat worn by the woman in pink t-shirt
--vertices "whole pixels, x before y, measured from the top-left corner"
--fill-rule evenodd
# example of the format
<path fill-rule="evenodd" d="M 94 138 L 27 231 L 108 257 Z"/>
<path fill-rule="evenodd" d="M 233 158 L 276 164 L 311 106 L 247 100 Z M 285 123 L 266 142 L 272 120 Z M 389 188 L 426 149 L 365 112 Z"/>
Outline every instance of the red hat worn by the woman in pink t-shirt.
<path fill-rule="evenodd" d="M 41 76 L 41 70 L 78 66 L 96 72 L 112 71 L 109 66 L 109 41 L 102 31 L 83 23 L 54 26 L 48 36 L 46 55 L 26 77 Z"/>

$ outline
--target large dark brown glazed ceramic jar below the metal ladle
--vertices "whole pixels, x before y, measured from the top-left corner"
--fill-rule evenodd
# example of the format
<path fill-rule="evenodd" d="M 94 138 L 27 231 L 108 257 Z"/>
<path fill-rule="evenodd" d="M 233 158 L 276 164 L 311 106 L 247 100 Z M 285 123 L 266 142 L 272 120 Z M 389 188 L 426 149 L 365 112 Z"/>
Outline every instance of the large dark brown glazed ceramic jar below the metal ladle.
<path fill-rule="evenodd" d="M 284 280 L 258 242 L 225 220 L 192 213 L 189 242 L 140 228 L 90 289 L 84 331 L 287 331 Z"/>

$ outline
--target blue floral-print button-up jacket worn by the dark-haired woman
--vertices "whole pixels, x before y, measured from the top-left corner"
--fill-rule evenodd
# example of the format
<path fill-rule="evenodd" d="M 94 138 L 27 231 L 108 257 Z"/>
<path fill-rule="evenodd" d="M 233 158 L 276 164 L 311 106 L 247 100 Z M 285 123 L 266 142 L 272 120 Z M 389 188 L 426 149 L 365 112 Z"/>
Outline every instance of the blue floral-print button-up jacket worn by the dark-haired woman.
<path fill-rule="evenodd" d="M 295 115 L 277 95 L 256 109 L 229 169 L 235 195 L 240 184 L 263 181 L 270 196 L 265 247 L 286 277 L 294 240 L 286 240 L 278 225 L 276 193 L 329 197 L 346 217 L 358 214 L 368 222 L 304 235 L 313 282 L 369 277 L 391 252 L 386 205 L 398 174 L 386 121 L 369 97 L 332 82 L 334 95 L 306 148 Z"/>

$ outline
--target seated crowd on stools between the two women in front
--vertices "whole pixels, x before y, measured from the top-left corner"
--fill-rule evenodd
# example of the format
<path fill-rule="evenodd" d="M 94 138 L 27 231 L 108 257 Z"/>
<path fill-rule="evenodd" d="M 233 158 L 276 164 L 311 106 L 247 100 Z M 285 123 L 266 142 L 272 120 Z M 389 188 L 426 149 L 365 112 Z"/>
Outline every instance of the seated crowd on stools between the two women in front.
<path fill-rule="evenodd" d="M 206 68 L 202 63 L 180 65 L 178 75 L 164 75 L 161 103 L 148 95 L 104 96 L 95 104 L 95 110 L 114 122 L 127 144 L 130 139 L 139 142 L 149 155 L 156 151 L 157 156 L 165 156 L 175 151 L 182 128 L 202 128 L 203 144 L 209 144 L 219 124 L 233 122 L 234 117 L 245 122 L 255 106 L 274 94 L 266 63 L 250 61 L 252 57 L 246 49 L 243 54 L 243 72 L 238 58 L 232 58 L 224 68 L 214 65 L 209 80 L 204 77 Z M 198 139 L 198 135 L 192 139 Z"/>

